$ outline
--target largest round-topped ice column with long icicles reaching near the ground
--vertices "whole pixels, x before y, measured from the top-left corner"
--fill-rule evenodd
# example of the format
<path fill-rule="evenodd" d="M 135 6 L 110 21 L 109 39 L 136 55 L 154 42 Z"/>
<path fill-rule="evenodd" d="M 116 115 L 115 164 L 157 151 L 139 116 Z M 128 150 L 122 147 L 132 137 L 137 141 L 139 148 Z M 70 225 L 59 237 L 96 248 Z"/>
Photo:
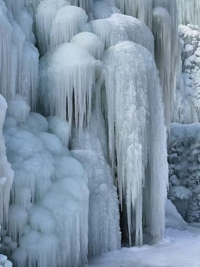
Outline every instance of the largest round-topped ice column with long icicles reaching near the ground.
<path fill-rule="evenodd" d="M 133 227 L 138 245 L 143 243 L 142 214 L 153 236 L 165 231 L 168 164 L 162 89 L 153 55 L 140 44 L 121 42 L 106 50 L 102 60 L 110 157 L 114 165 L 116 147 L 120 202 L 125 196 L 129 242 Z"/>

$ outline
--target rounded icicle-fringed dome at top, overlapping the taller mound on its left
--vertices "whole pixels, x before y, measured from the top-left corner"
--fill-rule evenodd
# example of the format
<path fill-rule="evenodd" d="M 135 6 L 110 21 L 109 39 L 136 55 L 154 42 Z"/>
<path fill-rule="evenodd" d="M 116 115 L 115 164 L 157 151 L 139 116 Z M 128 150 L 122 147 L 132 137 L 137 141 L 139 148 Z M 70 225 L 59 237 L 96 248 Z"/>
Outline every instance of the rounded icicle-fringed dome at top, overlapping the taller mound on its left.
<path fill-rule="evenodd" d="M 68 5 L 58 9 L 52 22 L 50 46 L 69 42 L 87 22 L 88 16 L 82 8 Z"/>

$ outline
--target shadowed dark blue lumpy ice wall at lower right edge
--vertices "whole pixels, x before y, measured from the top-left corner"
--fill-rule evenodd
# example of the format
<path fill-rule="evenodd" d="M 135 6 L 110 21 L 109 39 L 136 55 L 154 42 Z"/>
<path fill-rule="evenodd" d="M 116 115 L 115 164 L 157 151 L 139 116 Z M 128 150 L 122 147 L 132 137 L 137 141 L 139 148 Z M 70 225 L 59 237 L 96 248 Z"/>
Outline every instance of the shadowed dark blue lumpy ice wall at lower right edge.
<path fill-rule="evenodd" d="M 200 221 L 200 123 L 172 123 L 169 148 L 169 198 L 188 222 Z"/>

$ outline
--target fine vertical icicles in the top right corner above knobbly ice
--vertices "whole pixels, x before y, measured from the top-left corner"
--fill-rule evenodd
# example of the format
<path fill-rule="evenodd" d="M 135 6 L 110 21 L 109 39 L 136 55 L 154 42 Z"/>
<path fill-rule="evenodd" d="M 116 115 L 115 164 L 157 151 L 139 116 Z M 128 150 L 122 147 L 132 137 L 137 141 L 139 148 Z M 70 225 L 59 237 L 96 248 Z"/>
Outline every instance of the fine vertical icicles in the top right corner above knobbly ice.
<path fill-rule="evenodd" d="M 197 24 L 200 26 L 200 1 L 177 0 L 179 24 Z"/>

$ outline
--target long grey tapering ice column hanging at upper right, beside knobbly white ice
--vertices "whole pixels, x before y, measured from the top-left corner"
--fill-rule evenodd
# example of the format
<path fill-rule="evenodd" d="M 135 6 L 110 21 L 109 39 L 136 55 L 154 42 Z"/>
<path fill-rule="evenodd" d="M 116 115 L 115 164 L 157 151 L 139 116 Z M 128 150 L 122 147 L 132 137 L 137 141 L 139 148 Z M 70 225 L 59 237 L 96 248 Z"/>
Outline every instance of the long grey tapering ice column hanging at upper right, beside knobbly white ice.
<path fill-rule="evenodd" d="M 155 60 L 163 87 L 165 124 L 167 129 L 170 129 L 170 123 L 174 119 L 177 81 L 181 72 L 178 10 L 176 0 L 154 0 L 153 6 L 152 31 L 155 42 Z"/>

